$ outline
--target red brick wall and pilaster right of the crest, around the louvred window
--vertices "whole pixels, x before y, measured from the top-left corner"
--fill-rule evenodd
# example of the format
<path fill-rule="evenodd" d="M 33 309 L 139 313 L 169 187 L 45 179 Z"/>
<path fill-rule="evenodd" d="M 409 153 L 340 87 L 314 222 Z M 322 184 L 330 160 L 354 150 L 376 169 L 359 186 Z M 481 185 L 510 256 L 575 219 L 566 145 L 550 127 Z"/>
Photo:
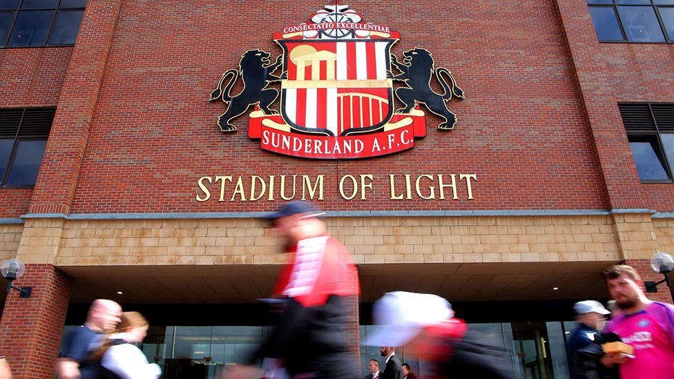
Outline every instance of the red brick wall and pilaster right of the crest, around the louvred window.
<path fill-rule="evenodd" d="M 557 0 L 612 208 L 674 211 L 671 184 L 641 184 L 618 101 L 674 101 L 674 46 L 599 43 L 585 1 Z"/>

